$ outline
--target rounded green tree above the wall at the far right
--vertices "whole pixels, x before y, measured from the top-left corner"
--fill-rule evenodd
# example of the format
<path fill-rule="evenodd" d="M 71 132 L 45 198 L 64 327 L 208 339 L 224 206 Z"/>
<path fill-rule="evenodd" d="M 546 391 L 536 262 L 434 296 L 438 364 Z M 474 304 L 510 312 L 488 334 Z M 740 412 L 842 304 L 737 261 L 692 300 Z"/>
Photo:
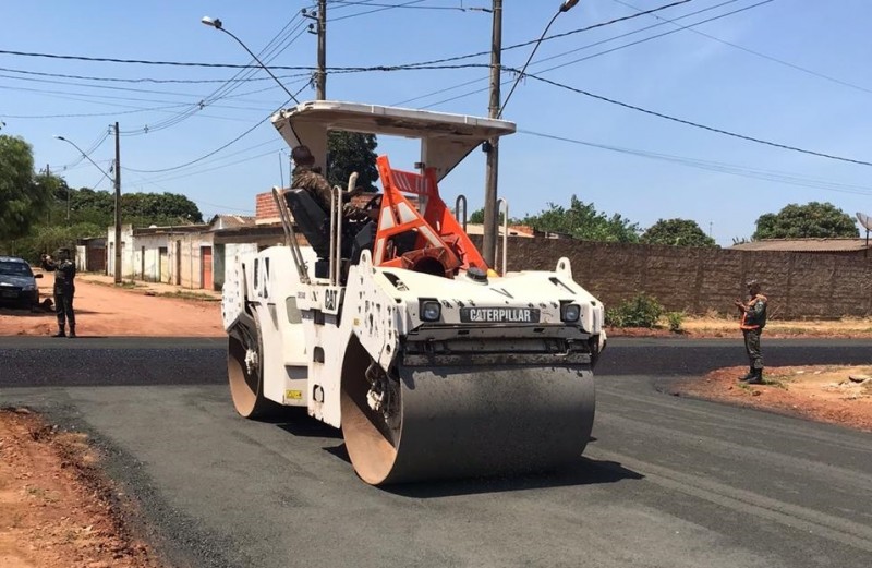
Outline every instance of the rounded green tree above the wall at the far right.
<path fill-rule="evenodd" d="M 802 239 L 829 237 L 859 237 L 853 218 L 832 203 L 791 203 L 777 214 L 767 213 L 756 220 L 756 231 L 751 237 L 761 239 Z"/>

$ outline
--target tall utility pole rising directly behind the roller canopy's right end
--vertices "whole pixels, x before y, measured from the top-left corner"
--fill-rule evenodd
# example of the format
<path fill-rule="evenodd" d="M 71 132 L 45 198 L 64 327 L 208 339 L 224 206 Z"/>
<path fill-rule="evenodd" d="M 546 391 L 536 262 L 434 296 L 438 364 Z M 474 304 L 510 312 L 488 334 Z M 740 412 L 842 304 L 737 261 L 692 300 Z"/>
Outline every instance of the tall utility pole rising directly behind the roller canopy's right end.
<path fill-rule="evenodd" d="M 499 118 L 499 82 L 502 60 L 502 0 L 494 0 L 494 28 L 491 37 L 491 104 L 488 116 Z M 487 154 L 484 181 L 484 262 L 494 267 L 497 246 L 497 173 L 499 170 L 499 136 L 494 136 L 483 145 Z"/>

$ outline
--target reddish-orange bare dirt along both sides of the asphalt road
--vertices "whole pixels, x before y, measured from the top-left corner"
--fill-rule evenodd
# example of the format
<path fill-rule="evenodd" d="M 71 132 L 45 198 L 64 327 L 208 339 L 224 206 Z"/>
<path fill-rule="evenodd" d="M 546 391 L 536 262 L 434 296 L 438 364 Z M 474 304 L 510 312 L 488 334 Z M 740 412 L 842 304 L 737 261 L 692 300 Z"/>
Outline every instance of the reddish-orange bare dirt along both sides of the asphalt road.
<path fill-rule="evenodd" d="M 215 292 L 167 285 L 116 287 L 110 277 L 76 279 L 77 333 L 51 339 L 51 312 L 0 307 L 0 336 L 44 336 L 46 341 L 88 337 L 221 337 Z M 50 297 L 51 279 L 40 280 Z M 688 319 L 688 337 L 737 337 L 736 323 Z M 611 330 L 619 336 L 670 336 L 661 330 Z M 872 338 L 872 321 L 773 322 L 765 338 Z M 715 371 L 675 386 L 674 394 L 747 404 L 872 431 L 872 365 L 767 368 L 765 385 L 737 382 L 744 367 Z M 849 377 L 855 377 L 851 380 Z M 158 568 L 164 566 L 129 519 L 135 505 L 105 476 L 99 456 L 82 434 L 59 432 L 26 409 L 0 409 L 0 566 L 3 568 Z"/>

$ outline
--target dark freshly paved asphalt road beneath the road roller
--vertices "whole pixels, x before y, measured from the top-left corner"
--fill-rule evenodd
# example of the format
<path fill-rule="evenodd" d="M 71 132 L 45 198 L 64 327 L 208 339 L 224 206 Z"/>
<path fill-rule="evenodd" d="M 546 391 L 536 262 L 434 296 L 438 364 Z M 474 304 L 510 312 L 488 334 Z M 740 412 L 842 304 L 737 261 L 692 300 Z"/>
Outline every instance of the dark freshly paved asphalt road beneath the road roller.
<path fill-rule="evenodd" d="M 594 439 L 560 472 L 387 491 L 304 413 L 238 418 L 222 346 L 2 338 L 0 404 L 92 434 L 177 566 L 872 566 L 872 436 L 655 388 L 740 365 L 738 340 L 613 341 Z M 872 362 L 863 341 L 765 348 Z"/>

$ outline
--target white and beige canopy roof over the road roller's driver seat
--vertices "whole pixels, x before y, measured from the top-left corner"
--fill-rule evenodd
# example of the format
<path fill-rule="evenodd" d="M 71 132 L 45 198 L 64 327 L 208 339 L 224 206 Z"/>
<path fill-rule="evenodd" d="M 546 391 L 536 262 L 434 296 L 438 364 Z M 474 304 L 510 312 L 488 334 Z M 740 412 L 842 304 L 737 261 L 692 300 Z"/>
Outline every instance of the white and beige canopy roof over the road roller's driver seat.
<path fill-rule="evenodd" d="M 484 141 L 512 134 L 505 120 L 334 100 L 314 100 L 272 116 L 272 124 L 292 148 L 305 144 L 324 168 L 331 130 L 386 134 L 421 141 L 421 161 L 445 178 Z"/>

